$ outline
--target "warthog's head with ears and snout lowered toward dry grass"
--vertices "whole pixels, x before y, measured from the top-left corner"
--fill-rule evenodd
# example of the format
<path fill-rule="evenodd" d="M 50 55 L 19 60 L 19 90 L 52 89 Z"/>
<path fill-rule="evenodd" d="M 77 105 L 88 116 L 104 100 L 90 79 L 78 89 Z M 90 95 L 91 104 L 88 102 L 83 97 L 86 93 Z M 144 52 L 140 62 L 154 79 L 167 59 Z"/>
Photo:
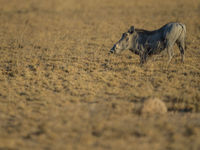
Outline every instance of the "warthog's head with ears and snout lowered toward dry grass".
<path fill-rule="evenodd" d="M 120 53 L 125 49 L 130 49 L 132 46 L 132 39 L 134 34 L 135 28 L 134 26 L 131 26 L 130 29 L 122 34 L 121 39 L 114 44 L 114 46 L 111 48 L 110 53 Z"/>

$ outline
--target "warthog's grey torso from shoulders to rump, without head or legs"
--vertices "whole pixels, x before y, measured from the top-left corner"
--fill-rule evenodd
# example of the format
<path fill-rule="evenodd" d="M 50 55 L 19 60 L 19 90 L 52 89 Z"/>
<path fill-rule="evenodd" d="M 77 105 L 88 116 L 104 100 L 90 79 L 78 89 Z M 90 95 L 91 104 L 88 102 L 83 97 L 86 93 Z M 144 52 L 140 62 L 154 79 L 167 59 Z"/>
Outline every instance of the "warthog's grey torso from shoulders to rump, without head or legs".
<path fill-rule="evenodd" d="M 149 51 L 148 54 L 151 55 L 159 53 L 166 47 L 172 46 L 174 42 L 179 39 L 181 34 L 185 35 L 186 27 L 181 23 L 168 23 L 154 31 L 143 29 L 136 29 L 135 31 L 139 35 L 139 44 L 142 44 L 142 46 Z"/>

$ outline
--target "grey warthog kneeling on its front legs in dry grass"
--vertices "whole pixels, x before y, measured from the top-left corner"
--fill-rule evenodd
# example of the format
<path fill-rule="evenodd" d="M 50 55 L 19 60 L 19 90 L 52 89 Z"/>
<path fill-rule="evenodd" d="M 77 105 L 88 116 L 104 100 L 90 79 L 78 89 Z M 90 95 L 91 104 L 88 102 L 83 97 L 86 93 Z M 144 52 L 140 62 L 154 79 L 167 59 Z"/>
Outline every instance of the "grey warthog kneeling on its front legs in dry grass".
<path fill-rule="evenodd" d="M 182 23 L 168 23 L 158 30 L 130 29 L 122 34 L 121 39 L 114 44 L 109 53 L 120 53 L 125 49 L 140 56 L 140 63 L 146 62 L 147 57 L 167 50 L 170 63 L 176 43 L 180 49 L 181 60 L 184 61 L 186 27 Z"/>

